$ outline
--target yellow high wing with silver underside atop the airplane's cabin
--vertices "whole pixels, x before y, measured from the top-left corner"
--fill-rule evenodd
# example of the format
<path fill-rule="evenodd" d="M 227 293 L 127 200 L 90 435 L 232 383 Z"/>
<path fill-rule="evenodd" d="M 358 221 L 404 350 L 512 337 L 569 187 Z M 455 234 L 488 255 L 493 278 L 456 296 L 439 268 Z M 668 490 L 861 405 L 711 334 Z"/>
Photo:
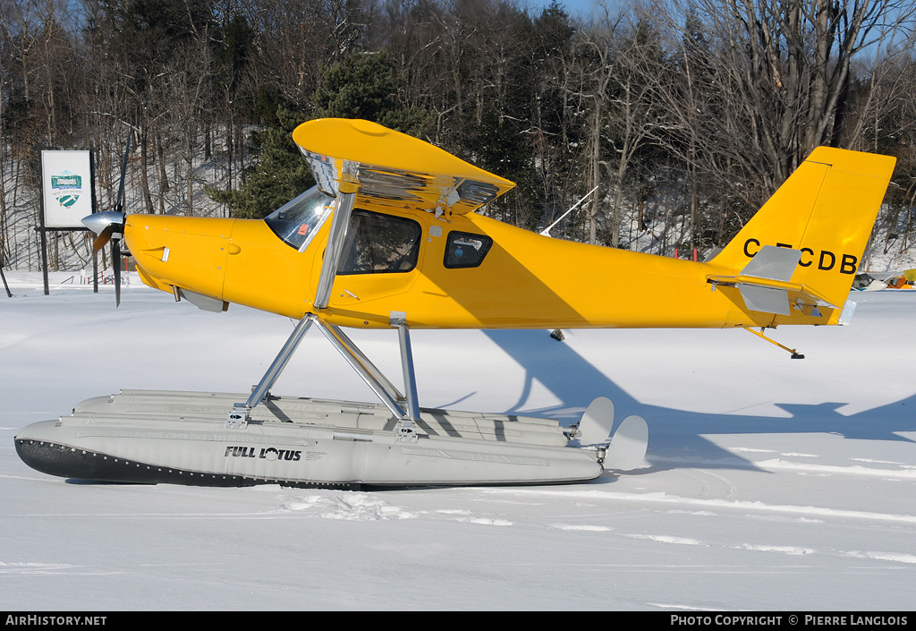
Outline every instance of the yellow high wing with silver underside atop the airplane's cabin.
<path fill-rule="evenodd" d="M 318 187 L 335 195 L 341 182 L 358 186 L 361 201 L 463 215 L 515 186 L 448 151 L 367 120 L 320 118 L 292 134 Z"/>

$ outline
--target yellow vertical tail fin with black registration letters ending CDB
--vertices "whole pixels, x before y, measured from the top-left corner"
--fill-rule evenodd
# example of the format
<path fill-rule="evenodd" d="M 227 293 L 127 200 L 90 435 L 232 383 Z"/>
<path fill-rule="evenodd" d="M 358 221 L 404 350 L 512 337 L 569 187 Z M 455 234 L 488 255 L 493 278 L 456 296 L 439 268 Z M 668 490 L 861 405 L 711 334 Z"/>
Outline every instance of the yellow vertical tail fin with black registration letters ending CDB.
<path fill-rule="evenodd" d="M 791 282 L 842 306 L 887 191 L 894 158 L 819 147 L 791 174 L 714 265 L 743 270 L 764 246 L 798 249 Z"/>

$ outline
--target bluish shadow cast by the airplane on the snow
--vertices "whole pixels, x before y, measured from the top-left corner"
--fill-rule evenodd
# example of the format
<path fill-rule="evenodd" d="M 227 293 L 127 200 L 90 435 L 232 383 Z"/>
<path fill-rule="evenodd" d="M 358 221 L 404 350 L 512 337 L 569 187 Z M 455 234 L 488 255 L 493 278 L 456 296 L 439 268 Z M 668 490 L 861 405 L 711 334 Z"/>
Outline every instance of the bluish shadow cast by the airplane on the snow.
<path fill-rule="evenodd" d="M 916 415 L 913 414 L 916 394 L 848 416 L 836 412 L 844 403 L 774 402 L 791 414 L 789 418 L 696 413 L 640 403 L 566 343 L 545 341 L 547 335 L 542 330 L 485 330 L 484 333 L 526 371 L 518 404 L 506 414 L 520 413 L 520 406 L 528 400 L 532 383 L 537 380 L 562 402 L 555 408 L 540 410 L 538 415 L 551 415 L 551 409 L 584 408 L 595 396 L 606 396 L 614 402 L 615 427 L 627 415 L 645 418 L 649 423 L 646 459 L 652 466 L 631 471 L 631 475 L 673 468 L 663 464 L 661 458 L 653 462 L 653 454 L 702 458 L 706 469 L 757 469 L 749 460 L 717 447 L 703 435 L 823 433 L 854 439 L 911 442 L 895 432 L 916 431 Z M 785 447 L 791 449 L 792 445 L 787 443 Z M 742 461 L 745 464 L 741 464 Z"/>

